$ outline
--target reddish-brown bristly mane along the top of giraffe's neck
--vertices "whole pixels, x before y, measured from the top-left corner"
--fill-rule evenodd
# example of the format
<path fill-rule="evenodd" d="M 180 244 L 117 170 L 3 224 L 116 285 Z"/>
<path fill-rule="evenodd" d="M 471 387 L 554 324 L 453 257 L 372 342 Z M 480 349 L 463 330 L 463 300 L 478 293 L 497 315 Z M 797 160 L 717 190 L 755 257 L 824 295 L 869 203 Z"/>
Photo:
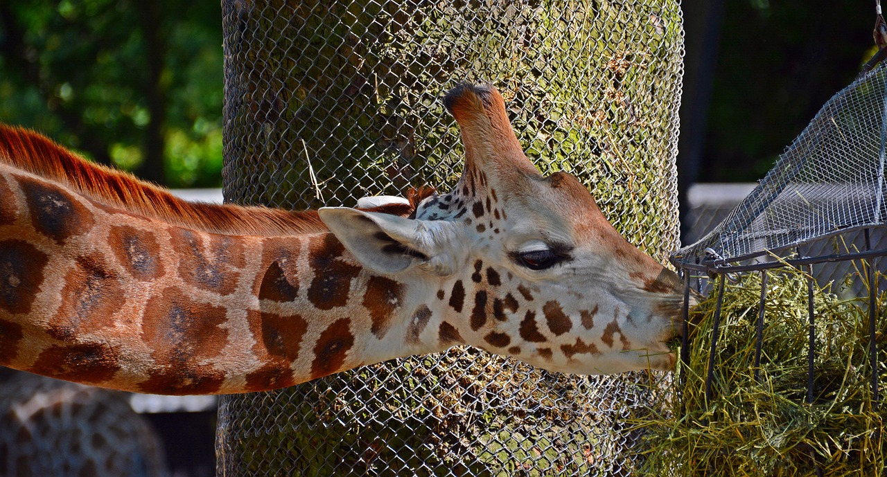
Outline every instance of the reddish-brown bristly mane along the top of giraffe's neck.
<path fill-rule="evenodd" d="M 81 155 L 29 129 L 0 124 L 0 163 L 55 181 L 98 204 L 159 219 L 179 227 L 228 235 L 293 235 L 329 231 L 317 211 L 207 204 L 179 199 L 127 172 L 85 160 Z M 433 189 L 408 193 L 410 206 L 369 209 L 410 215 Z"/>

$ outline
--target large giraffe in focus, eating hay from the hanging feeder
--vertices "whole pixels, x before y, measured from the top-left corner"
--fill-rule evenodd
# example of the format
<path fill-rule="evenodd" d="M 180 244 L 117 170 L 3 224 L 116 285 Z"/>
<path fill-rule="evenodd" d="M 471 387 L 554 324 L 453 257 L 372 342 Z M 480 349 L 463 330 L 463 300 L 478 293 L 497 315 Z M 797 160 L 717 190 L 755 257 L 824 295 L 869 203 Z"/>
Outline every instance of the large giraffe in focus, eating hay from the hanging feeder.
<path fill-rule="evenodd" d="M 0 364 L 230 394 L 466 344 L 550 371 L 669 370 L 682 281 L 574 177 L 543 177 L 495 88 L 443 99 L 451 192 L 290 212 L 190 204 L 0 131 Z"/>

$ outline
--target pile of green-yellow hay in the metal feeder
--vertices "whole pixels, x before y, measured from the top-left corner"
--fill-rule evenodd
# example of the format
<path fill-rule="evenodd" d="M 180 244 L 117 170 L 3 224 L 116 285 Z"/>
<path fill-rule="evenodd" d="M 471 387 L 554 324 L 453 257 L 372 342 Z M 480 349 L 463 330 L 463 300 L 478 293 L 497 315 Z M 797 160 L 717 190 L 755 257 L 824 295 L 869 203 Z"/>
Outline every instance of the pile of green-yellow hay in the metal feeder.
<path fill-rule="evenodd" d="M 813 403 L 807 404 L 807 276 L 768 273 L 759 382 L 754 356 L 761 278 L 747 273 L 726 285 L 711 402 L 705 403 L 705 377 L 716 293 L 698 309 L 703 317 L 689 345 L 689 365 L 679 365 L 686 387 L 668 398 L 663 414 L 637 422 L 647 441 L 641 474 L 789 477 L 816 475 L 817 465 L 828 476 L 881 474 L 885 411 L 872 403 L 867 298 L 842 301 L 828 288 L 815 288 L 816 371 Z M 883 293 L 877 299 L 883 395 L 887 302 Z"/>

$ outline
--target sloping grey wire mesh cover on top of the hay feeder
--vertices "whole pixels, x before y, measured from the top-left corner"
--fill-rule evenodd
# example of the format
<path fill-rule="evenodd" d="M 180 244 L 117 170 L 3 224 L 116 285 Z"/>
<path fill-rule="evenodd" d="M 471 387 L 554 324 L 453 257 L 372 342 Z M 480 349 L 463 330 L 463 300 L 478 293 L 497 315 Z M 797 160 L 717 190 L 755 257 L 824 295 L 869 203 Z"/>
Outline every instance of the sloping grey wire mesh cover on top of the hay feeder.
<path fill-rule="evenodd" d="M 882 64 L 829 99 L 761 184 L 675 262 L 703 260 L 708 248 L 727 262 L 742 261 L 884 225 L 885 143 Z"/>

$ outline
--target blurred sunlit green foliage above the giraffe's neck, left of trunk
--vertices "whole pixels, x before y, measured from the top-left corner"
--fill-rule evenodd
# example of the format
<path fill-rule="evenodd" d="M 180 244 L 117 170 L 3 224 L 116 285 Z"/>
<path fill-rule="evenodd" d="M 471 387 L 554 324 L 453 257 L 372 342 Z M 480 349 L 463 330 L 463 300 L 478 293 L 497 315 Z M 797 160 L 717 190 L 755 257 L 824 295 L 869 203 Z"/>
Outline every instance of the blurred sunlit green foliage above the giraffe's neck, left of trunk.
<path fill-rule="evenodd" d="M 0 121 L 172 187 L 222 168 L 218 2 L 0 2 Z"/>

